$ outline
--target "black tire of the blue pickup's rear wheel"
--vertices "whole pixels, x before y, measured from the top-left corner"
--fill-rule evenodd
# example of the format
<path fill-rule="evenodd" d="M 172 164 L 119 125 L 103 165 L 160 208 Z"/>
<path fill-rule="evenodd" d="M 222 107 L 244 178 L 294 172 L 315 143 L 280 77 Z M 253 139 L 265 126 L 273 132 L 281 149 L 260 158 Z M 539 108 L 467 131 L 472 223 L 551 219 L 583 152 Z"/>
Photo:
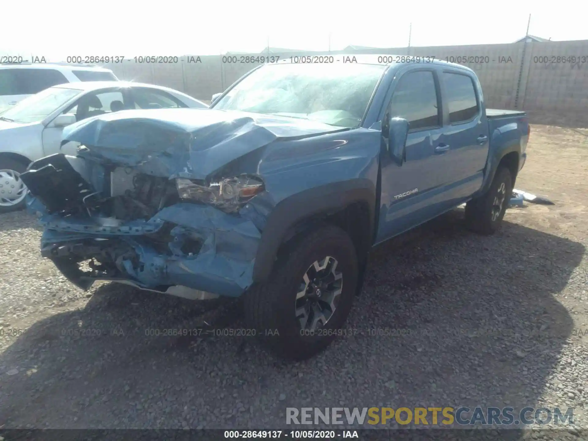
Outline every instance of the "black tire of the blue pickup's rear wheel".
<path fill-rule="evenodd" d="M 505 166 L 499 166 L 492 185 L 486 193 L 466 204 L 466 226 L 483 235 L 495 233 L 502 225 L 510 197 L 512 196 L 512 175 Z M 503 193 L 504 192 L 504 193 Z M 499 214 L 495 217 L 496 202 L 504 198 Z M 497 210 L 496 210 L 497 211 Z"/>

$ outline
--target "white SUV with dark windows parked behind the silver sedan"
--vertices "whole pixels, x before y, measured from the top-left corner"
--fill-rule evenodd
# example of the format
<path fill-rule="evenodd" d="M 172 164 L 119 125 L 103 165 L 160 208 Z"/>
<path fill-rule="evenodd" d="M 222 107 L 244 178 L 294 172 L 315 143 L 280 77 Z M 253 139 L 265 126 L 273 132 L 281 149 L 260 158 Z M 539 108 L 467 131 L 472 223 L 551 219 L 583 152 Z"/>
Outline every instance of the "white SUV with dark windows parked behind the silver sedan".
<path fill-rule="evenodd" d="M 118 81 L 110 69 L 92 64 L 0 64 L 0 112 L 52 86 L 78 81 Z"/>

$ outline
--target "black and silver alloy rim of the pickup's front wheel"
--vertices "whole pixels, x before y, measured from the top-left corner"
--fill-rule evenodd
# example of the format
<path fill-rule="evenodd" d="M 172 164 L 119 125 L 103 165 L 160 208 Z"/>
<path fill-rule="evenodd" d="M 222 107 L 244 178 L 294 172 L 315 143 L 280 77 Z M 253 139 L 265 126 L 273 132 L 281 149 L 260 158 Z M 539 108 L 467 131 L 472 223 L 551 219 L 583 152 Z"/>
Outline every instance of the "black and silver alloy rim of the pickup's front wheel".
<path fill-rule="evenodd" d="M 335 313 L 343 288 L 337 259 L 315 260 L 303 276 L 296 294 L 296 319 L 302 330 L 322 328 Z"/>

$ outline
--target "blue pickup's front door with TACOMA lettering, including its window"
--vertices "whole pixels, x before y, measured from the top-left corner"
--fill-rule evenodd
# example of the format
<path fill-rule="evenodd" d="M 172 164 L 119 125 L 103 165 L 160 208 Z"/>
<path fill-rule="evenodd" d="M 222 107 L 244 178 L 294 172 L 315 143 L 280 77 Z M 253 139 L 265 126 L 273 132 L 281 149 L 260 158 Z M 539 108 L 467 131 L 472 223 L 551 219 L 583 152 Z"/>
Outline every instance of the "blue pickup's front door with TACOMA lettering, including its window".
<path fill-rule="evenodd" d="M 423 209 L 439 178 L 433 158 L 433 140 L 442 129 L 439 82 L 434 68 L 410 66 L 392 83 L 392 96 L 382 115 L 383 142 L 387 143 L 389 116 L 409 121 L 406 161 L 399 165 L 382 149 L 382 189 L 376 242 L 381 242 L 429 217 Z M 433 207 L 433 211 L 435 207 Z M 426 219 L 424 219 L 426 220 Z"/>

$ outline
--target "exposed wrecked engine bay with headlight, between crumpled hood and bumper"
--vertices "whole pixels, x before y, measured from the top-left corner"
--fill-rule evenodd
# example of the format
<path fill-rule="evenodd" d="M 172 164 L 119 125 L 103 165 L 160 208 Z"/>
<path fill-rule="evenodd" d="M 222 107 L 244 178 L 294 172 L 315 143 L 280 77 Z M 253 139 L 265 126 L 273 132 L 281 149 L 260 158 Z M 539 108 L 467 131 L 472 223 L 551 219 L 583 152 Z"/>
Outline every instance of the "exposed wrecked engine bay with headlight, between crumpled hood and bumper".
<path fill-rule="evenodd" d="M 181 200 L 236 212 L 263 189 L 259 179 L 247 176 L 207 184 L 147 175 L 128 166 L 101 167 L 99 173 L 88 168 L 92 167 L 85 159 L 58 153 L 34 162 L 23 179 L 49 213 L 69 216 L 86 212 L 88 216 L 119 220 L 150 219 Z M 82 175 L 98 176 L 94 182 L 87 182 Z M 96 187 L 100 190 L 96 191 Z"/>

